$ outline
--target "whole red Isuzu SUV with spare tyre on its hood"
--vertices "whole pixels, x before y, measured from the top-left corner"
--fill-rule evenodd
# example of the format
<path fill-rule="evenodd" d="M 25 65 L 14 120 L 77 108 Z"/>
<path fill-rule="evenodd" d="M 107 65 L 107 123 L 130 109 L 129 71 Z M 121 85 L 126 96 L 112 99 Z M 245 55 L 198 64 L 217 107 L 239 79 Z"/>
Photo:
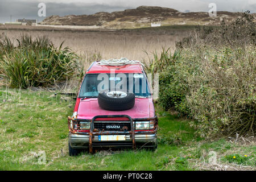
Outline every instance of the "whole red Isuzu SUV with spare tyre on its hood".
<path fill-rule="evenodd" d="M 68 127 L 69 155 L 105 147 L 155 150 L 158 118 L 142 64 L 92 63 Z"/>

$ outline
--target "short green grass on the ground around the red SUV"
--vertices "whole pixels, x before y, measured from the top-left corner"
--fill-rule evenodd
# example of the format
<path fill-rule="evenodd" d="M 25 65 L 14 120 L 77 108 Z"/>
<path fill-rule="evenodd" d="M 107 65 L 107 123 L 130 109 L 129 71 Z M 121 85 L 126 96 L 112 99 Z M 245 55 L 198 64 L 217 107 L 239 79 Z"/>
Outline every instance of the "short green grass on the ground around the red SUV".
<path fill-rule="evenodd" d="M 195 135 L 187 119 L 158 107 L 159 142 L 146 150 L 86 152 L 68 155 L 67 116 L 75 101 L 60 94 L 0 89 L 0 170 L 197 170 L 214 169 L 209 152 L 228 169 L 256 169 L 255 144 L 234 144 L 225 139 L 206 141 Z M 45 152 L 46 163 L 39 164 Z M 247 155 L 239 163 L 228 155 Z M 227 157 L 228 156 L 228 157 Z M 240 169 L 240 168 L 239 168 Z"/>

